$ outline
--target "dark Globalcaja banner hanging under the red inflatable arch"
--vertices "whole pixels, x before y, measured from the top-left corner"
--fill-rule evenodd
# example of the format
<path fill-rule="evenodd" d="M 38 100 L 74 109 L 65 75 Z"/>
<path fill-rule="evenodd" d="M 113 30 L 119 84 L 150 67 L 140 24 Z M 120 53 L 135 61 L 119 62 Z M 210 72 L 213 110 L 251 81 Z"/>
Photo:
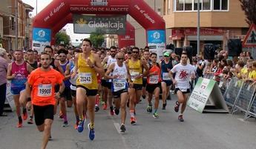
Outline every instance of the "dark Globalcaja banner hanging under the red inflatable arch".
<path fill-rule="evenodd" d="M 126 16 L 73 15 L 74 33 L 125 34 Z"/>

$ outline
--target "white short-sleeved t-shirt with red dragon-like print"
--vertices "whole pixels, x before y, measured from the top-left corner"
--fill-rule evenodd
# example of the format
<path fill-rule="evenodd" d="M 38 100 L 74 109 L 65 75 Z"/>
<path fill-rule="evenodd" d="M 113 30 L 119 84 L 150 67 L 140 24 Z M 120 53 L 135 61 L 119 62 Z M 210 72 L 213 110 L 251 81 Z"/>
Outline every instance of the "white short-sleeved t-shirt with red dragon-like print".
<path fill-rule="evenodd" d="M 189 80 L 191 78 L 191 75 L 194 73 L 194 67 L 191 64 L 176 64 L 172 69 L 172 73 L 176 73 L 175 80 L 177 82 L 177 85 L 175 85 L 176 88 L 180 89 L 188 89 L 189 86 Z"/>

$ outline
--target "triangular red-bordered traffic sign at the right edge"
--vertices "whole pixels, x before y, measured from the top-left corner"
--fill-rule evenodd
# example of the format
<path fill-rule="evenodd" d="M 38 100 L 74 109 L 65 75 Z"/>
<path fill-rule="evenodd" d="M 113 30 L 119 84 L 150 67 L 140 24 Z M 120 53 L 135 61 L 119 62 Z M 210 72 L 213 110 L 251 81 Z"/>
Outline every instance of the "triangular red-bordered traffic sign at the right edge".
<path fill-rule="evenodd" d="M 256 47 L 256 25 L 252 24 L 246 37 L 243 39 L 243 47 Z"/>

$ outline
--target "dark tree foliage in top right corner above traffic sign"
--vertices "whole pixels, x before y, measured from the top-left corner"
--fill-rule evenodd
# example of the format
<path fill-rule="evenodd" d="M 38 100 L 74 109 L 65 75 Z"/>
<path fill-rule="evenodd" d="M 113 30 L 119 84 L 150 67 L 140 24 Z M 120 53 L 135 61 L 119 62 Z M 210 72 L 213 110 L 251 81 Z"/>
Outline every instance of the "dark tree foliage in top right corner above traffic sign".
<path fill-rule="evenodd" d="M 242 10 L 246 13 L 246 22 L 256 24 L 256 0 L 239 0 Z"/>

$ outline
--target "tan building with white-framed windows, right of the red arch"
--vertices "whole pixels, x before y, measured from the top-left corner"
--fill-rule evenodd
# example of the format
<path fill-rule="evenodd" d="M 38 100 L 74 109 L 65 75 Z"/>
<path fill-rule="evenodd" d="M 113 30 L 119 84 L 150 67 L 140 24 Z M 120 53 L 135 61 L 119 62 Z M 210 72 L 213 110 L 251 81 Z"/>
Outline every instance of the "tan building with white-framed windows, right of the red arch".
<path fill-rule="evenodd" d="M 166 43 L 197 49 L 197 0 L 163 0 Z M 227 49 L 229 39 L 243 39 L 249 29 L 239 0 L 200 1 L 200 50 L 204 44 Z"/>

